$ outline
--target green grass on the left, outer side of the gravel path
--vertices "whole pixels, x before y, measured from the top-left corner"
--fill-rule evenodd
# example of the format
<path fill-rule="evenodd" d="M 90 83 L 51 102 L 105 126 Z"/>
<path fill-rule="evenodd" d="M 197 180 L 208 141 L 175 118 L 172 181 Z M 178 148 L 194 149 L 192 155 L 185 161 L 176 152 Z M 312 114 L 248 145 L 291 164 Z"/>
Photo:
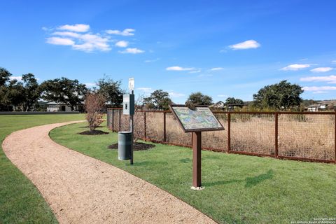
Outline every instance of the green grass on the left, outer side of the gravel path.
<path fill-rule="evenodd" d="M 28 127 L 83 118 L 79 114 L 0 116 L 0 223 L 57 223 L 35 186 L 3 153 L 3 139 Z"/>

